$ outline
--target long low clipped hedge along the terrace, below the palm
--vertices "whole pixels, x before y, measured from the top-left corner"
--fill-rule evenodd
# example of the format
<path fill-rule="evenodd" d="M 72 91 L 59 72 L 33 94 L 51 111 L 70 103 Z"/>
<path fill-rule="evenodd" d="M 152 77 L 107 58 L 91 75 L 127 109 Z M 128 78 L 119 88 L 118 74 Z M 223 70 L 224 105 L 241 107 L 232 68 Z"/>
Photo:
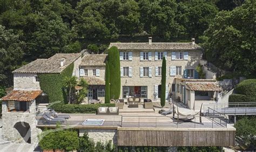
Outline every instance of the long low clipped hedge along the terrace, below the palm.
<path fill-rule="evenodd" d="M 96 103 L 96 104 L 90 104 L 90 105 L 73 105 L 73 104 L 62 104 L 62 103 L 56 103 L 53 104 L 51 107 L 56 112 L 60 113 L 87 113 L 87 114 L 93 114 L 97 112 L 97 109 L 99 107 L 114 107 L 114 103 Z"/>

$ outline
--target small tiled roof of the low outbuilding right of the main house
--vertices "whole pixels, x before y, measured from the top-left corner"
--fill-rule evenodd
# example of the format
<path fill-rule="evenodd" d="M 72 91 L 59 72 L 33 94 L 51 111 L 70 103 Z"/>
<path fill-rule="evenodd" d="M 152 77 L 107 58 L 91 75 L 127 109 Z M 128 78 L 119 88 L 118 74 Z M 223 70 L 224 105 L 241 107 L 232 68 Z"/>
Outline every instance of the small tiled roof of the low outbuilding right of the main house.
<path fill-rule="evenodd" d="M 192 91 L 221 91 L 222 89 L 218 87 L 215 83 L 206 82 L 186 82 L 187 87 Z"/>

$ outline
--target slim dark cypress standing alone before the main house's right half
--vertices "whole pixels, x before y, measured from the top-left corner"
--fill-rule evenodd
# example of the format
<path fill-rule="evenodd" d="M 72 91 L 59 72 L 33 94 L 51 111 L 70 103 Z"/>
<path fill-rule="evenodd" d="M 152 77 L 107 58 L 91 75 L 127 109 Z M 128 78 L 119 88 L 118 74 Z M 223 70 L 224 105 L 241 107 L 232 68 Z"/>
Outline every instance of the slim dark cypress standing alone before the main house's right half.
<path fill-rule="evenodd" d="M 163 108 L 165 106 L 165 88 L 166 87 L 166 60 L 165 57 L 162 61 L 162 67 L 161 67 L 161 107 Z"/>

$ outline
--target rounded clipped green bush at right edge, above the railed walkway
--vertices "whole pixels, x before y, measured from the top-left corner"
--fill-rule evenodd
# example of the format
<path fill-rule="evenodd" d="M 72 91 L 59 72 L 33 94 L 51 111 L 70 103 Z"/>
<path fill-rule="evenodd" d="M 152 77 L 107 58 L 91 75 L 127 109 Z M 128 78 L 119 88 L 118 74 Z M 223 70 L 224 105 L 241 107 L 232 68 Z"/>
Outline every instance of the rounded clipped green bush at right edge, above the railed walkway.
<path fill-rule="evenodd" d="M 244 80 L 234 90 L 237 94 L 256 96 L 256 79 Z"/>

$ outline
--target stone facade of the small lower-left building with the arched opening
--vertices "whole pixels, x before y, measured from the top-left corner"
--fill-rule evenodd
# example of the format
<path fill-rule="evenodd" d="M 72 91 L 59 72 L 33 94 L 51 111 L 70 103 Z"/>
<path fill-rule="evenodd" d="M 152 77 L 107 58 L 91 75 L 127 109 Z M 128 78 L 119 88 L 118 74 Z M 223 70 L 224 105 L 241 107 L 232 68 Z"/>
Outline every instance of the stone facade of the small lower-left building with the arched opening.
<path fill-rule="evenodd" d="M 15 101 L 19 102 L 19 101 Z M 42 132 L 41 129 L 36 128 L 36 101 L 29 102 L 29 112 L 8 112 L 8 101 L 3 101 L 2 104 L 2 114 L 3 114 L 3 130 L 2 137 L 4 140 L 15 141 L 18 143 L 24 143 L 26 140 L 31 137 L 31 143 L 37 142 L 37 135 Z M 29 124 L 30 132 L 26 134 L 25 137 L 22 137 L 21 134 L 26 132 L 22 128 L 17 130 L 15 125 L 21 122 L 21 125 L 24 126 L 25 123 Z M 24 122 L 24 123 L 23 123 Z M 31 135 L 31 136 L 30 136 Z"/>

